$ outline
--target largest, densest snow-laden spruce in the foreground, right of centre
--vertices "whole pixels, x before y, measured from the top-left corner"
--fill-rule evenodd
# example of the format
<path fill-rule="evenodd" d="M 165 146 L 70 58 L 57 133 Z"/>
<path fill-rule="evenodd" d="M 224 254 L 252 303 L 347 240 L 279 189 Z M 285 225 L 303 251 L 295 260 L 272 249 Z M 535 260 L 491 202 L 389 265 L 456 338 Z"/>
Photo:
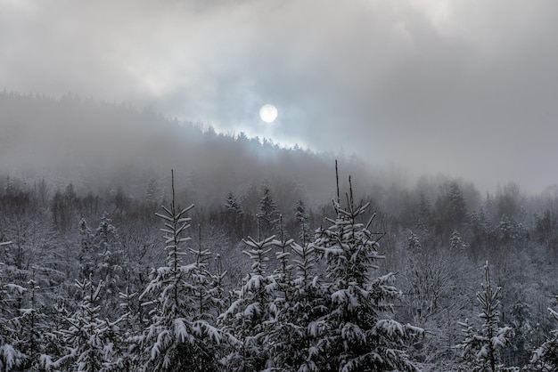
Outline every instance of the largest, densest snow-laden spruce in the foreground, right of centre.
<path fill-rule="evenodd" d="M 349 185 L 350 185 L 349 177 Z M 312 360 L 320 371 L 416 371 L 409 360 L 406 343 L 423 334 L 423 329 L 391 319 L 391 301 L 401 292 L 394 286 L 395 274 L 373 279 L 378 242 L 358 218 L 369 203 L 356 205 L 352 186 L 347 206 L 333 200 L 337 214 L 332 225 L 319 230 L 313 246 L 327 263 L 324 303 L 327 313 L 311 324 L 318 337 Z"/>

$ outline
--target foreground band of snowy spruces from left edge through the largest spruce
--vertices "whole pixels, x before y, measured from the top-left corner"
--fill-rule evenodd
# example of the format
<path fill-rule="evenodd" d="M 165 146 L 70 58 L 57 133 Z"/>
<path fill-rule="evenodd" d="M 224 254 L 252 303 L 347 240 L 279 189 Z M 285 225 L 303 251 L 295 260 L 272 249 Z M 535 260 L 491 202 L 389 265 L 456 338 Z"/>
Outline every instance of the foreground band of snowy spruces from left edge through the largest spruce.
<path fill-rule="evenodd" d="M 45 313 L 36 302 L 35 269 L 27 287 L 4 286 L 6 303 L 17 295 L 29 302 L 17 309 L 21 316 L 4 314 L 4 369 L 418 370 L 406 347 L 423 330 L 392 319 L 391 301 L 400 295 L 393 274 L 372 276 L 383 257 L 370 222 L 357 222 L 368 204 L 357 206 L 352 194 L 345 207 L 334 201 L 336 217 L 313 240 L 301 207 L 300 235 L 308 242 L 300 244 L 285 238 L 281 217 L 270 222 L 273 215 L 262 214 L 258 239 L 243 239 L 251 271 L 242 287 L 226 293 L 219 256 L 193 247 L 187 236 L 193 206 L 177 209 L 174 181 L 172 190 L 169 206 L 157 214 L 165 261 L 141 293 L 131 292 L 127 279 L 119 302 L 107 296 L 118 289 L 121 252 L 111 249 L 115 229 L 105 216 L 95 231 L 80 222 L 82 279 L 75 283 L 74 311 L 62 303 Z M 266 193 L 262 210 L 270 203 Z M 279 226 L 277 237 L 259 237 L 267 224 Z M 268 271 L 272 253 L 279 265 Z M 320 261 L 324 276 L 315 270 Z M 109 316 L 102 317 L 101 307 L 111 309 Z M 53 321 L 39 320 L 44 317 Z"/>

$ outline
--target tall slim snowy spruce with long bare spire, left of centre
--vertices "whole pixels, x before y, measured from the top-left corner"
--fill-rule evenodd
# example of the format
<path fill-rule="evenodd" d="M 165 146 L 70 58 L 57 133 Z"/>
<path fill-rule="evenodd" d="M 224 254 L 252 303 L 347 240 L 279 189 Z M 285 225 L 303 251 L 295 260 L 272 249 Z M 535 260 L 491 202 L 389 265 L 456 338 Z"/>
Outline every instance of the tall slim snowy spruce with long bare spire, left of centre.
<path fill-rule="evenodd" d="M 163 214 L 165 223 L 165 266 L 152 271 L 152 279 L 140 299 L 151 306 L 152 318 L 142 335 L 134 338 L 139 352 L 144 354 L 144 371 L 208 371 L 219 370 L 217 345 L 221 333 L 205 319 L 194 319 L 197 314 L 198 283 L 194 276 L 196 263 L 184 264 L 185 244 L 190 241 L 185 231 L 191 219 L 186 214 L 189 206 L 176 211 L 174 172 L 172 200 Z"/>

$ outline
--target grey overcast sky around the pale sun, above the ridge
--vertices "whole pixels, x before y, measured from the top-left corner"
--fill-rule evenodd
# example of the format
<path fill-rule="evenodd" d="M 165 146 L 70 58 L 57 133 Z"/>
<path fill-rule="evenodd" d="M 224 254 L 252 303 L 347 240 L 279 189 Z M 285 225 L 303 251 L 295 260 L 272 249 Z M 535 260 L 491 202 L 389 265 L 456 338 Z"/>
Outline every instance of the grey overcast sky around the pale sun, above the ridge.
<path fill-rule="evenodd" d="M 556 20 L 555 0 L 0 0 L 0 88 L 538 192 L 558 183 Z"/>

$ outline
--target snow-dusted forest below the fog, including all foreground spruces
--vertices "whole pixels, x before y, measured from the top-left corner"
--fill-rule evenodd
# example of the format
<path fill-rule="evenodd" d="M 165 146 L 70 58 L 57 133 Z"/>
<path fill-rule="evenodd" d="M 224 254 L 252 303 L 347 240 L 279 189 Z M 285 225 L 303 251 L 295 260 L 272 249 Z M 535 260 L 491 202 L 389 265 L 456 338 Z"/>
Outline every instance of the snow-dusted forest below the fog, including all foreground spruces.
<path fill-rule="evenodd" d="M 139 201 L 4 182 L 4 370 L 557 368 L 555 214 L 529 215 L 512 186 L 472 210 L 448 182 L 388 214 L 349 182 L 319 213 L 299 200 L 283 218 L 266 183 L 257 213 L 232 192 L 199 213 L 174 182 L 162 196 L 150 183 Z M 147 228 L 160 202 L 164 244 Z"/>

